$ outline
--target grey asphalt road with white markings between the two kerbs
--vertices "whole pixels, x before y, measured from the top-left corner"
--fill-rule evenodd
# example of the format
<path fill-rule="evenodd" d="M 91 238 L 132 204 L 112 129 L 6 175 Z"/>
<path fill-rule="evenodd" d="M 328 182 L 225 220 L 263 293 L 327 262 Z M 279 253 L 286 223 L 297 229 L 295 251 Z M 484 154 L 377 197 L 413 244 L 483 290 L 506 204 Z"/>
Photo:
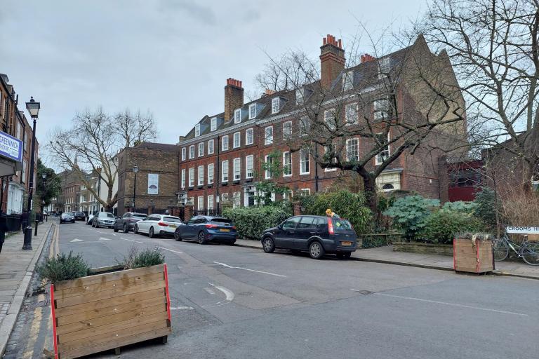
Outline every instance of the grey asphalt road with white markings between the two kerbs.
<path fill-rule="evenodd" d="M 166 255 L 168 344 L 121 358 L 537 358 L 539 283 L 60 226 L 92 266 Z M 112 352 L 94 358 L 117 358 Z"/>

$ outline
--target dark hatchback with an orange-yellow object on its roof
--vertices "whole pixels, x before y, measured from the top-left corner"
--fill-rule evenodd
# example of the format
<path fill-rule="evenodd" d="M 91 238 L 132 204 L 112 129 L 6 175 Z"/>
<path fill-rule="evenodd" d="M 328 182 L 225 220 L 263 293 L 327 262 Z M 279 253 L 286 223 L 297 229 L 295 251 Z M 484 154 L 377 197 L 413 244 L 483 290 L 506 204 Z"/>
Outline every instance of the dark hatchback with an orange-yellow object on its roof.
<path fill-rule="evenodd" d="M 262 248 L 272 253 L 275 248 L 308 251 L 311 258 L 321 259 L 326 253 L 350 258 L 357 248 L 356 231 L 346 219 L 323 216 L 295 216 L 262 234 Z"/>

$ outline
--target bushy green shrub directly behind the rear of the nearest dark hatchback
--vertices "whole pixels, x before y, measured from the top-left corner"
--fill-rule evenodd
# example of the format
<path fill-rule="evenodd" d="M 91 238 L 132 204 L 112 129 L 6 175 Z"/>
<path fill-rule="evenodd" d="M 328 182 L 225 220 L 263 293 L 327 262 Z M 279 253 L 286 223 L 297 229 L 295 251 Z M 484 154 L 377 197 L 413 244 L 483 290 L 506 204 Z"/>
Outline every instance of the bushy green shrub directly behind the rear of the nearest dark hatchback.
<path fill-rule="evenodd" d="M 337 213 L 341 218 L 348 219 L 356 233 L 366 233 L 373 224 L 373 215 L 365 205 L 364 194 L 354 194 L 343 190 L 337 192 L 326 192 L 310 196 L 305 202 L 305 215 L 326 215 L 326 210 Z"/>

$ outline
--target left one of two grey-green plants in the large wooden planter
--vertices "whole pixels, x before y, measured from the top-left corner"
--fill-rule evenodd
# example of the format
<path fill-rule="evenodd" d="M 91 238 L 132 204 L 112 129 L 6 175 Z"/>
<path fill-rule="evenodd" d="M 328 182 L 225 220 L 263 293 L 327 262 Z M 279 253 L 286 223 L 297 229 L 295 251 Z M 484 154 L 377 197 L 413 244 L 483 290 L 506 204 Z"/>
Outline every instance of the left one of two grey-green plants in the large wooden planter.
<path fill-rule="evenodd" d="M 69 255 L 59 253 L 56 257 L 46 259 L 36 271 L 41 278 L 51 280 L 52 283 L 59 283 L 62 280 L 88 276 L 88 269 L 90 267 L 84 262 L 82 255 L 73 255 L 73 252 L 69 252 Z"/>

